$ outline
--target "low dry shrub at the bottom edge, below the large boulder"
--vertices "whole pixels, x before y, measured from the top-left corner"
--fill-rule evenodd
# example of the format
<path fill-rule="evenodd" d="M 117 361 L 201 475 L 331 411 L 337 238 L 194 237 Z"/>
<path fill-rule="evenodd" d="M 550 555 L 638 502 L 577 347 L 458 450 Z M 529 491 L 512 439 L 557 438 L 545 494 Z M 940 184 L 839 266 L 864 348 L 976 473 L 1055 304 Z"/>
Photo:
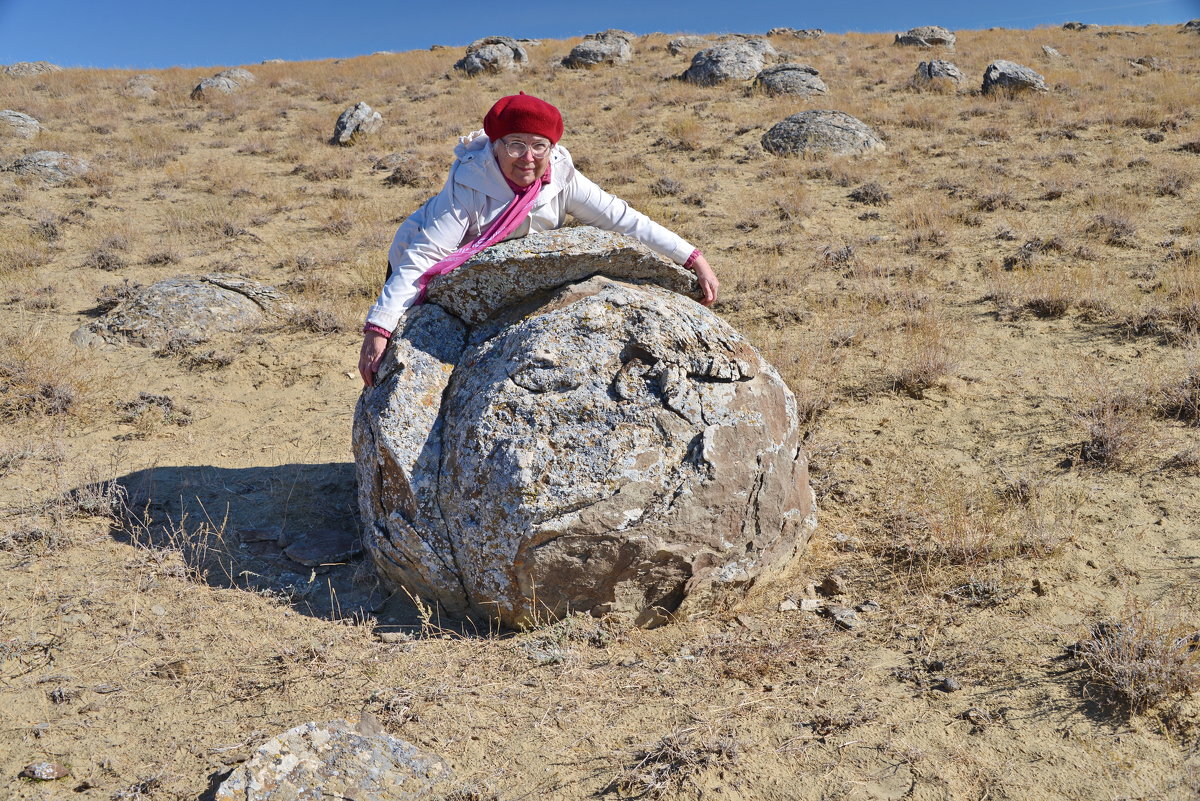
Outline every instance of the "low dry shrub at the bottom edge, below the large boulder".
<path fill-rule="evenodd" d="M 620 772 L 606 790 L 620 799 L 677 797 L 689 784 L 702 793 L 696 777 L 738 759 L 738 743 L 728 731 L 706 731 L 696 727 L 667 734 L 655 743 L 638 748 L 632 765 Z"/>

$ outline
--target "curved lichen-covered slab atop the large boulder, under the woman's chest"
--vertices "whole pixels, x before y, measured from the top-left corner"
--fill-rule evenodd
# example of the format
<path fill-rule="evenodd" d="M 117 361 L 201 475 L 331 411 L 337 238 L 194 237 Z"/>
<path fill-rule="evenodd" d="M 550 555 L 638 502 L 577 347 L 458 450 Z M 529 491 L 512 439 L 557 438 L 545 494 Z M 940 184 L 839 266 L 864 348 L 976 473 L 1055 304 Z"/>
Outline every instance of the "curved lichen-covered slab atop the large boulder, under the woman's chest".
<path fill-rule="evenodd" d="M 658 284 L 692 300 L 703 297 L 688 270 L 628 236 L 581 225 L 490 247 L 431 281 L 428 300 L 478 325 L 530 295 L 598 272 L 630 283 Z"/>

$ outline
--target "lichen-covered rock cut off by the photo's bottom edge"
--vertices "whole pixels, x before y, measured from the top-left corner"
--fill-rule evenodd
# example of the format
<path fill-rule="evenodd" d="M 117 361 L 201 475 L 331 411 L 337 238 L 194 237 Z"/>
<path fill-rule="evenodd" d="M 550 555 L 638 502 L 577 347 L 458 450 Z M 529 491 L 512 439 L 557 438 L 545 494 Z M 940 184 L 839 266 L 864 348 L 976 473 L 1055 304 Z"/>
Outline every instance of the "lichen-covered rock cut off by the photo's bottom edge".
<path fill-rule="evenodd" d="M 440 757 L 378 729 L 366 718 L 289 729 L 234 769 L 215 801 L 424 801 L 454 791 Z"/>

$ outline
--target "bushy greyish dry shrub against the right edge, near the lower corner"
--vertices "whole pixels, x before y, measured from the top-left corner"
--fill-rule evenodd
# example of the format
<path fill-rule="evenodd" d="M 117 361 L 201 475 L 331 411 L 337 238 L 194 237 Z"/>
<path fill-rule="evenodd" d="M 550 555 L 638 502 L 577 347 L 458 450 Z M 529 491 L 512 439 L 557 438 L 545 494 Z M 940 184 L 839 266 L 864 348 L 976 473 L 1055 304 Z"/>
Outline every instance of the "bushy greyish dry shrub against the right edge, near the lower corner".
<path fill-rule="evenodd" d="M 1069 651 L 1088 686 L 1130 712 L 1200 688 L 1200 630 L 1177 610 L 1135 606 L 1121 620 L 1093 625 Z"/>

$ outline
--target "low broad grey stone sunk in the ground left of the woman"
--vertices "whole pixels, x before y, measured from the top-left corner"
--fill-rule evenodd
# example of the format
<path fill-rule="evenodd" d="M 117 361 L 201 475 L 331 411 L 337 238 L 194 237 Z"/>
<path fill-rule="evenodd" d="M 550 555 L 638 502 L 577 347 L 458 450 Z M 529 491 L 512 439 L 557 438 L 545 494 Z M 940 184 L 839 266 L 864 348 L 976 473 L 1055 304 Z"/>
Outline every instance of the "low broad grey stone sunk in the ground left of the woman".
<path fill-rule="evenodd" d="M 262 325 L 286 312 L 282 293 L 226 273 L 160 281 L 98 320 L 71 335 L 77 345 L 131 344 L 160 348 L 172 341 L 197 343 L 218 331 Z"/>

